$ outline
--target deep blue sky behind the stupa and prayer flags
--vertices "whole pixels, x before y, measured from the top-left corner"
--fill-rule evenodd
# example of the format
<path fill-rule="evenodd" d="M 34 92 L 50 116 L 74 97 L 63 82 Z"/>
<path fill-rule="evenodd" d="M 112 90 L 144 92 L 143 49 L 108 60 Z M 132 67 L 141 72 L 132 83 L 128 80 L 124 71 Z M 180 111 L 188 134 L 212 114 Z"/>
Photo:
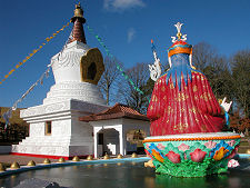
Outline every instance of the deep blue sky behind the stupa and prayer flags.
<path fill-rule="evenodd" d="M 76 0 L 0 0 L 0 80 L 73 16 Z M 188 43 L 206 41 L 230 57 L 249 49 L 249 0 L 81 0 L 84 18 L 126 68 L 151 62 L 150 40 L 167 61 L 174 23 L 183 22 Z M 10 107 L 39 79 L 68 39 L 72 24 L 0 85 L 0 106 Z M 87 43 L 104 50 L 87 29 Z M 18 106 L 41 105 L 54 83 L 52 73 Z"/>

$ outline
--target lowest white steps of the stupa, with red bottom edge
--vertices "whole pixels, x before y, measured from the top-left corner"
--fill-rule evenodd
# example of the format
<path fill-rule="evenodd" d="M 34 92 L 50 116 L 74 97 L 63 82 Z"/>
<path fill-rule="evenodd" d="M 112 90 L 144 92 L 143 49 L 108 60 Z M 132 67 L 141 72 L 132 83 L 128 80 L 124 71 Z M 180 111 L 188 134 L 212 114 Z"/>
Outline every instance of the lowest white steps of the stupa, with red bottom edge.
<path fill-rule="evenodd" d="M 12 154 L 39 155 L 47 158 L 88 156 L 93 154 L 92 137 L 28 137 L 19 145 L 12 145 Z M 36 157 L 36 156 L 34 156 Z"/>

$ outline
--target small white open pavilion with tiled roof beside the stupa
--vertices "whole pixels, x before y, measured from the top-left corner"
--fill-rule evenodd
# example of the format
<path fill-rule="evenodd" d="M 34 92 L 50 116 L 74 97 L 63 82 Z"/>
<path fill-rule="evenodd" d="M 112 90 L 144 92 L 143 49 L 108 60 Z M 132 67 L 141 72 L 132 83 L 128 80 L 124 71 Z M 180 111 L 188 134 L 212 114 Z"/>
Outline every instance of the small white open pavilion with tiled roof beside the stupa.
<path fill-rule="evenodd" d="M 100 113 L 82 117 L 80 120 L 93 127 L 94 156 L 97 157 L 104 152 L 127 155 L 137 151 L 137 145 L 131 144 L 128 137 L 131 130 L 149 136 L 150 123 L 147 116 L 121 103 L 116 103 Z"/>

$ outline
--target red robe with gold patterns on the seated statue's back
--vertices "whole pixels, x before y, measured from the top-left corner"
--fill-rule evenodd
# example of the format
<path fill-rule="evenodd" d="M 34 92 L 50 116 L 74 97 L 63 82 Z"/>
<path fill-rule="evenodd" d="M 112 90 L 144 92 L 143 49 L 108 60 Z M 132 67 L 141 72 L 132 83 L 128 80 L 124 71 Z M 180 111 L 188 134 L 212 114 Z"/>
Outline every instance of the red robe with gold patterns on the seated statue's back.
<path fill-rule="evenodd" d="M 188 86 L 182 78 L 179 90 L 171 77 L 166 83 L 166 76 L 157 80 L 148 108 L 151 136 L 221 131 L 223 111 L 208 79 L 193 71 Z"/>

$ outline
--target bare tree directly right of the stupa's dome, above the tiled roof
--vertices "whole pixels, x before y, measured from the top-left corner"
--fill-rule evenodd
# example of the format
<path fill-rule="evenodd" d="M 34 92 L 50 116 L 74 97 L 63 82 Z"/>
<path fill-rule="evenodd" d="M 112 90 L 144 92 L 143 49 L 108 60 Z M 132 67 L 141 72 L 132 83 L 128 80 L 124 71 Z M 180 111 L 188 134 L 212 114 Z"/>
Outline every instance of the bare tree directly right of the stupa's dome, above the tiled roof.
<path fill-rule="evenodd" d="M 117 69 L 117 63 L 118 63 L 118 60 L 116 58 L 110 59 L 106 57 L 104 59 L 106 70 L 102 73 L 102 77 L 98 83 L 102 93 L 104 95 L 107 105 L 109 105 L 110 101 L 112 100 L 110 98 L 111 91 L 114 92 L 117 90 L 117 81 L 119 80 L 119 76 L 120 76 L 120 71 Z M 122 65 L 122 63 L 119 62 L 119 65 Z"/>

